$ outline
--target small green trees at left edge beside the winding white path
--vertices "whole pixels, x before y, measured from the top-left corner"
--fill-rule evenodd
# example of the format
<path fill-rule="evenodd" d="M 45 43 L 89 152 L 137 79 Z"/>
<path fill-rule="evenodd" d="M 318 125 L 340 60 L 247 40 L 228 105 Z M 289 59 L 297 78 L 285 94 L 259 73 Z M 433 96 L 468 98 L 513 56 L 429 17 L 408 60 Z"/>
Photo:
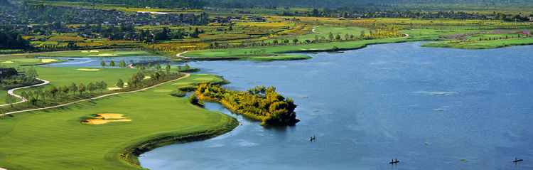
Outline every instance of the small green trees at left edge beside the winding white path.
<path fill-rule="evenodd" d="M 23 75 L 18 75 L 18 71 L 15 68 L 7 68 L 4 78 L 0 80 L 0 86 L 4 89 L 11 89 L 14 87 L 22 87 L 26 85 L 35 85 L 40 83 L 41 80 L 37 80 L 38 73 L 35 68 L 30 68 Z"/>

